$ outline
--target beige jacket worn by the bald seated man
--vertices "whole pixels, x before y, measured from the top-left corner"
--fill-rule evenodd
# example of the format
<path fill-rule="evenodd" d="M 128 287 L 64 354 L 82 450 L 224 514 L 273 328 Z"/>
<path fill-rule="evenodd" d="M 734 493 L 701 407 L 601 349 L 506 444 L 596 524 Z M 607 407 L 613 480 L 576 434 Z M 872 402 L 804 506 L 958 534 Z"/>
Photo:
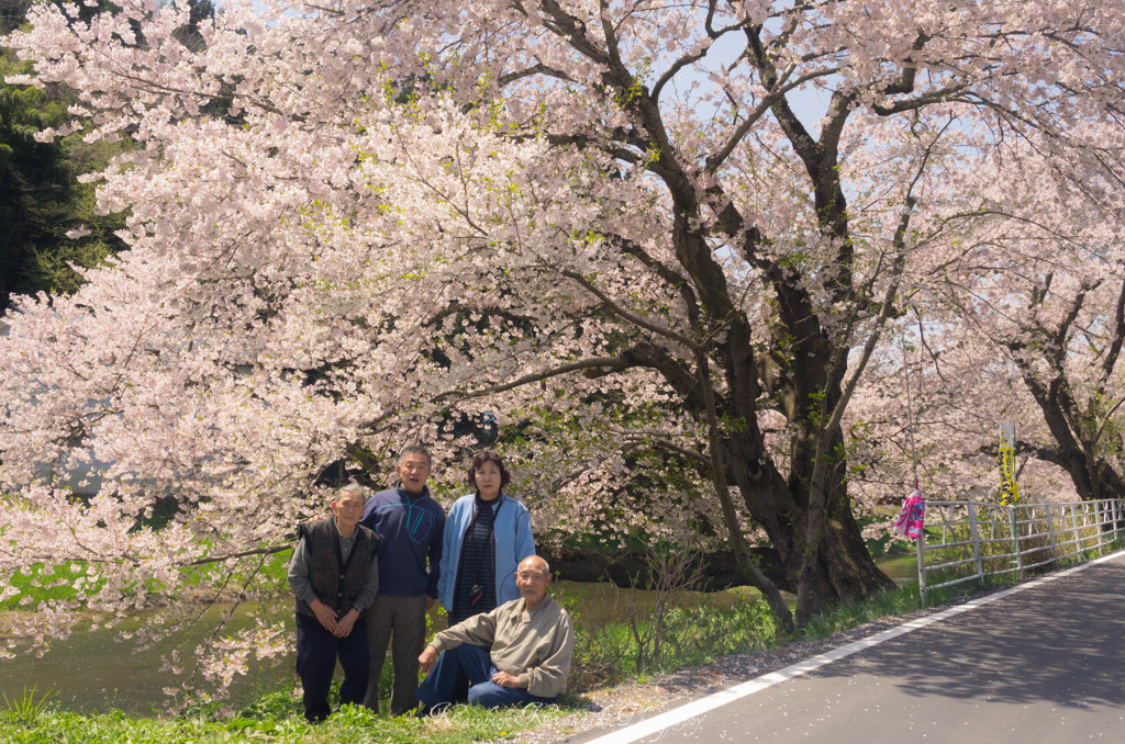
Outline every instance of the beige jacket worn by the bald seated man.
<path fill-rule="evenodd" d="M 439 652 L 462 643 L 492 646 L 497 670 L 519 674 L 520 687 L 540 698 L 554 698 L 566 689 L 574 651 L 574 625 L 566 610 L 544 596 L 531 611 L 524 600 L 513 599 L 492 610 L 461 620 L 433 637 Z"/>

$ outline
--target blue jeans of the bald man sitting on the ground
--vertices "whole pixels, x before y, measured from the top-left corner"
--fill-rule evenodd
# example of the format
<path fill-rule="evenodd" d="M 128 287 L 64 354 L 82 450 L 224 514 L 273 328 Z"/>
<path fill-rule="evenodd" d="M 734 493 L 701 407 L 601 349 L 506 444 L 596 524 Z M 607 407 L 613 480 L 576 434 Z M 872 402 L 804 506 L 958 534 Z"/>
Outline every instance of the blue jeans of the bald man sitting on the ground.
<path fill-rule="evenodd" d="M 492 681 L 492 675 L 496 671 L 487 648 L 462 644 L 441 653 L 438 663 L 434 664 L 430 675 L 418 687 L 414 697 L 431 708 L 457 702 L 453 700 L 453 690 L 457 688 L 458 681 L 468 679 L 469 684 L 472 686 L 469 688 L 469 704 L 471 705 L 501 708 L 528 705 L 529 702 L 541 705 L 555 702 L 555 698 L 540 698 L 522 688 L 496 684 Z"/>

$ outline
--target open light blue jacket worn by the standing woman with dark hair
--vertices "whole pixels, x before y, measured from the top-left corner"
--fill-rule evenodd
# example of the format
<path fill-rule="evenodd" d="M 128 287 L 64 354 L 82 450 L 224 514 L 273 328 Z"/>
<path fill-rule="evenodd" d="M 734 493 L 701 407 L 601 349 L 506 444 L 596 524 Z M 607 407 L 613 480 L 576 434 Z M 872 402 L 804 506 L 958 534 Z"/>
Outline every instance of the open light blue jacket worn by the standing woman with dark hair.
<path fill-rule="evenodd" d="M 515 586 L 515 570 L 520 561 L 536 554 L 536 538 L 531 534 L 531 515 L 523 501 L 500 495 L 500 511 L 493 526 L 493 545 L 496 564 L 496 606 L 520 598 Z M 461 561 L 461 541 L 477 514 L 477 495 L 467 493 L 457 499 L 446 517 L 446 534 L 441 551 L 441 571 L 438 574 L 438 598 L 448 610 L 453 606 L 457 586 L 457 566 Z"/>

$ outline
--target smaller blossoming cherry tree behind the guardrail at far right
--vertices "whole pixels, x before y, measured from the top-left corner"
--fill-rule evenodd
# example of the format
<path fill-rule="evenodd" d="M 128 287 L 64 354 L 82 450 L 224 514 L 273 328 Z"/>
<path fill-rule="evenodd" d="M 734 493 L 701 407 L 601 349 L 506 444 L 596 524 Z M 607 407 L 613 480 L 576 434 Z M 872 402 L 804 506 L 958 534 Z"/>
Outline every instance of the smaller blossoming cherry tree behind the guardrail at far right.
<path fill-rule="evenodd" d="M 868 492 L 902 472 L 914 425 L 932 488 L 994 496 L 998 482 L 983 477 L 1009 420 L 1025 498 L 1122 492 L 1119 144 L 1096 126 L 1078 136 L 1091 144 L 1089 162 L 1012 139 L 957 179 L 964 219 L 950 247 L 965 260 L 930 267 L 906 319 L 906 359 L 884 350 L 852 411 L 856 451 L 881 465 L 866 470 Z M 896 394 L 907 384 L 912 414 Z"/>

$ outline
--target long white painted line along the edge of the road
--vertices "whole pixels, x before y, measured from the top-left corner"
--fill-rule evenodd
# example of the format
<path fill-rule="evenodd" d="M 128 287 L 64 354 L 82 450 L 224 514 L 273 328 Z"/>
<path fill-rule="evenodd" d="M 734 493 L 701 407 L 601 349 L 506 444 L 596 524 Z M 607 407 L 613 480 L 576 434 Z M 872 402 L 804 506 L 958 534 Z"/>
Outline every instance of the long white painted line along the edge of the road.
<path fill-rule="evenodd" d="M 811 672 L 816 669 L 820 669 L 826 664 L 830 664 L 834 661 L 839 661 L 846 656 L 863 651 L 865 648 L 871 648 L 872 646 L 878 646 L 879 644 L 890 641 L 891 638 L 897 638 L 900 635 L 910 633 L 911 630 L 917 630 L 918 628 L 924 628 L 927 625 L 933 625 L 934 623 L 940 623 L 942 620 L 954 617 L 955 615 L 961 615 L 962 613 L 968 613 L 970 610 L 976 609 L 993 602 L 998 599 L 1005 597 L 1010 597 L 1011 595 L 1019 593 L 1027 589 L 1033 589 L 1035 587 L 1043 586 L 1050 581 L 1055 581 L 1056 579 L 1062 579 L 1063 577 L 1069 577 L 1072 573 L 1078 573 L 1083 571 L 1091 565 L 1097 565 L 1105 561 L 1120 556 L 1125 551 L 1119 551 L 1110 555 L 1104 555 L 1087 563 L 1082 563 L 1065 571 L 1060 571 L 1058 573 L 1051 573 L 1033 581 L 998 591 L 986 597 L 980 597 L 972 601 L 968 601 L 963 605 L 957 605 L 956 607 L 951 607 L 950 609 L 942 610 L 934 615 L 927 615 L 926 617 L 920 617 L 916 620 L 910 620 L 909 623 L 903 623 L 893 628 L 882 630 L 866 638 L 862 638 L 854 643 L 849 643 L 846 646 L 840 646 L 839 648 L 834 648 L 832 651 L 827 651 L 819 656 L 813 656 L 812 659 L 806 659 L 795 664 L 785 666 L 784 669 L 778 669 L 776 672 L 771 672 L 768 674 L 763 674 L 748 682 L 742 682 L 734 687 L 729 687 L 726 690 L 720 690 L 705 698 L 700 698 L 678 708 L 673 708 L 667 710 L 659 716 L 649 718 L 648 720 L 641 720 L 639 723 L 626 726 L 624 728 L 618 729 L 615 732 L 598 736 L 597 738 L 591 740 L 585 744 L 630 744 L 631 742 L 637 742 L 647 736 L 658 734 L 666 728 L 673 728 L 684 722 L 694 718 L 695 716 L 701 716 L 710 710 L 714 710 L 728 702 L 734 702 L 735 700 L 745 698 L 747 696 L 754 695 L 771 688 L 774 684 L 784 682 L 785 680 L 791 680 L 794 677 L 800 677 L 807 672 Z"/>

